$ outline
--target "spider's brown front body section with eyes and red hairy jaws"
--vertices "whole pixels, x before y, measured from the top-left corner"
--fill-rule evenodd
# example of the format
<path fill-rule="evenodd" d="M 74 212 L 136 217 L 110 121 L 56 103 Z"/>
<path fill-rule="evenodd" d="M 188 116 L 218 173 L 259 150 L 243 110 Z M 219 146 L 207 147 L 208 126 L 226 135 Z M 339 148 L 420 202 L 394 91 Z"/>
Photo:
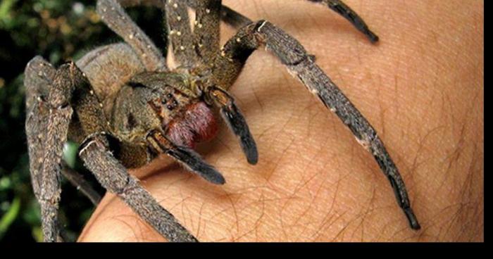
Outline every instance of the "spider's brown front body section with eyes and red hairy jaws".
<path fill-rule="evenodd" d="M 127 145 L 146 148 L 146 134 L 161 128 L 173 143 L 194 148 L 195 144 L 216 136 L 218 126 L 211 106 L 197 87 L 198 80 L 187 74 L 144 72 L 132 77 L 118 91 L 111 108 L 110 130 Z M 135 149 L 125 157 L 135 156 Z M 124 165 L 126 160 L 123 161 Z M 138 167 L 149 162 L 139 161 Z"/>

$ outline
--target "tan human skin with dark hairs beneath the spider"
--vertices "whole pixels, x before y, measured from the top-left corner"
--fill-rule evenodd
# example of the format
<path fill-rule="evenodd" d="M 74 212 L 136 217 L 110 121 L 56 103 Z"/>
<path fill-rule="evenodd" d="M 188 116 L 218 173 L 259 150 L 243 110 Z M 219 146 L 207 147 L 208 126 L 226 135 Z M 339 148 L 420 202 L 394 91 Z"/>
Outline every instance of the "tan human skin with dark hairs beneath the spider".
<path fill-rule="evenodd" d="M 249 165 L 224 124 L 199 153 L 216 186 L 162 156 L 130 172 L 200 241 L 483 241 L 484 3 L 347 0 L 380 36 L 307 1 L 230 0 L 299 39 L 384 141 L 422 229 L 351 132 L 266 51 L 230 89 L 256 139 Z M 223 26 L 223 42 L 233 30 Z M 106 194 L 79 241 L 165 241 Z"/>

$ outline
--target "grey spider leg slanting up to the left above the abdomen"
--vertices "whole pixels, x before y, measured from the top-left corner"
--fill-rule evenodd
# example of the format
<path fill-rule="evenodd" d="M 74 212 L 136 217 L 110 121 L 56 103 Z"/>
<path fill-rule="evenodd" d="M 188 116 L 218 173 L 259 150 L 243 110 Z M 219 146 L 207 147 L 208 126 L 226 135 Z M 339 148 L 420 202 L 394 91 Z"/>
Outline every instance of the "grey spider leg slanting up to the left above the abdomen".
<path fill-rule="evenodd" d="M 148 71 L 166 71 L 166 60 L 161 51 L 135 24 L 123 7 L 121 0 L 98 0 L 96 11 L 108 27 L 120 35 L 137 53 Z"/>

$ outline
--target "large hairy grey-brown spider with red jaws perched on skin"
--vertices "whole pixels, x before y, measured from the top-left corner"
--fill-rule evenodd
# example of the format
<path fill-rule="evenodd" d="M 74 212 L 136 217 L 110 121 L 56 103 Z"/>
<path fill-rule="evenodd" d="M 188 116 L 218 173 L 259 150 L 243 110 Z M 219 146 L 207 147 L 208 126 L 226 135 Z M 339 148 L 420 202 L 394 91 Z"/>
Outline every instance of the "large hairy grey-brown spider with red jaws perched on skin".
<path fill-rule="evenodd" d="M 342 1 L 310 1 L 327 5 L 377 42 L 378 37 Z M 123 10 L 140 4 L 165 11 L 177 68 L 168 68 L 163 53 Z M 195 10 L 193 25 L 188 8 Z M 196 143 L 216 134 L 213 108 L 220 110 L 238 137 L 248 163 L 256 164 L 255 141 L 227 89 L 262 45 L 373 154 L 411 228 L 420 229 L 401 175 L 373 127 L 289 34 L 267 20 L 252 22 L 220 0 L 98 0 L 97 12 L 124 43 L 100 46 L 58 69 L 37 56 L 25 70 L 30 172 L 45 241 L 63 240 L 57 210 L 67 139 L 80 143 L 80 158 L 102 186 L 118 194 L 161 235 L 170 241 L 196 241 L 126 168 L 142 166 L 164 153 L 209 182 L 224 184 L 224 177 L 192 151 Z M 239 28 L 223 47 L 219 47 L 220 20 Z"/>

